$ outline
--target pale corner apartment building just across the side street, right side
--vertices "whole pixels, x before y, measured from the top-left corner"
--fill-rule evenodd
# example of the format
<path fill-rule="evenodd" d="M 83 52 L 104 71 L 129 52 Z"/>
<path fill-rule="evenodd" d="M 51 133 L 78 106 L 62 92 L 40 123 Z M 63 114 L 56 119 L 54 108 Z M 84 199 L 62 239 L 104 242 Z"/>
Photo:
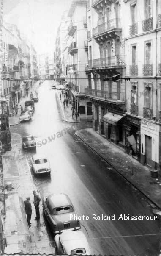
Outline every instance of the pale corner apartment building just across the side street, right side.
<path fill-rule="evenodd" d="M 85 97 L 85 88 L 88 85 L 88 76 L 85 64 L 88 59 L 87 47 L 87 3 L 86 0 L 74 0 L 68 11 L 71 18 L 67 33 L 68 45 L 68 84 L 75 101 L 76 111 L 80 120 L 92 119 L 92 103 Z"/>

